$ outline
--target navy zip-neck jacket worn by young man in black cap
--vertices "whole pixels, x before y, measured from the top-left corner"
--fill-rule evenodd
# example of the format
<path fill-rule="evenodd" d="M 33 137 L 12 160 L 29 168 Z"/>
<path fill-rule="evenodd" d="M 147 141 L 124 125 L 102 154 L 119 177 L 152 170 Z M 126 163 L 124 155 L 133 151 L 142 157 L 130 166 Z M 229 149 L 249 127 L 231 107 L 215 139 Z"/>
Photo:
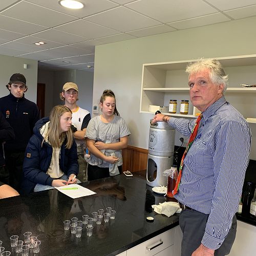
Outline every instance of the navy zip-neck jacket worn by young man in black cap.
<path fill-rule="evenodd" d="M 5 143 L 5 152 L 25 151 L 33 128 L 38 121 L 39 111 L 37 105 L 26 99 L 16 98 L 11 93 L 0 98 L 0 111 L 14 130 L 15 139 Z"/>

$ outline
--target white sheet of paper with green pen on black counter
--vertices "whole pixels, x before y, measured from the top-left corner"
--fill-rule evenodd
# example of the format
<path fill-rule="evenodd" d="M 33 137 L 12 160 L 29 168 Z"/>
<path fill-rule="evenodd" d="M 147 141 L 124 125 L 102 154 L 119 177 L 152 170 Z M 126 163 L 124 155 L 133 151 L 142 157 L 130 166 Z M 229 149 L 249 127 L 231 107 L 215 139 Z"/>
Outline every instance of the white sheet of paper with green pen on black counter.
<path fill-rule="evenodd" d="M 63 188 L 73 188 L 73 187 L 77 189 L 63 189 Z M 55 188 L 58 189 L 61 193 L 71 198 L 86 197 L 86 196 L 91 196 L 96 194 L 94 191 L 86 187 L 82 187 L 78 184 L 70 184 L 67 186 L 61 186 L 61 187 L 55 187 Z"/>

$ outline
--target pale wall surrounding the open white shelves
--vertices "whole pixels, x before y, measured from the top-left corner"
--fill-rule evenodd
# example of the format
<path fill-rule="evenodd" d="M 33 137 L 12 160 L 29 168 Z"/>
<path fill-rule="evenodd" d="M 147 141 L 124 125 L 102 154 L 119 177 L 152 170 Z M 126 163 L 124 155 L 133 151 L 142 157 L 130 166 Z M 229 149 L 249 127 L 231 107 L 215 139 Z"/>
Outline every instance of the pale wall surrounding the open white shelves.
<path fill-rule="evenodd" d="M 129 144 L 147 148 L 153 115 L 139 113 L 142 64 L 255 54 L 255 24 L 251 17 L 96 46 L 93 104 L 104 89 L 112 89 L 132 133 Z"/>

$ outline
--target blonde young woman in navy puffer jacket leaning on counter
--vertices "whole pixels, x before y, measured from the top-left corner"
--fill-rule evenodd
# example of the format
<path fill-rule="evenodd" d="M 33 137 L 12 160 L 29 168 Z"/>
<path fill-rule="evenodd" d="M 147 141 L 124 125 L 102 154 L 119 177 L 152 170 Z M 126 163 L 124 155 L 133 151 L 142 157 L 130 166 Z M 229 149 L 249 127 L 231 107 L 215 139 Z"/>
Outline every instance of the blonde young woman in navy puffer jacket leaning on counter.
<path fill-rule="evenodd" d="M 72 112 L 57 105 L 50 118 L 37 121 L 25 152 L 22 193 L 28 194 L 76 183 L 76 143 L 71 131 Z"/>

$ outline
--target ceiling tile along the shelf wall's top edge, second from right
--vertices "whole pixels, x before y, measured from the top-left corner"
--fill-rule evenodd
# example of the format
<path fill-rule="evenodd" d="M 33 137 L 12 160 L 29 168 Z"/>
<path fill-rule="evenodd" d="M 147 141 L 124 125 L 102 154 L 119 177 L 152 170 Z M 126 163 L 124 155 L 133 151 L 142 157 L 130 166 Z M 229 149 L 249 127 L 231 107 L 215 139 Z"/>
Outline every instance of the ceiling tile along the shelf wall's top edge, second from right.
<path fill-rule="evenodd" d="M 168 23 L 168 25 L 177 28 L 177 29 L 188 29 L 206 26 L 210 24 L 216 24 L 220 22 L 227 22 L 230 20 L 228 17 L 223 15 L 222 13 L 209 14 L 197 18 L 189 18 L 185 20 L 181 20 L 180 22 L 172 22 Z"/>

